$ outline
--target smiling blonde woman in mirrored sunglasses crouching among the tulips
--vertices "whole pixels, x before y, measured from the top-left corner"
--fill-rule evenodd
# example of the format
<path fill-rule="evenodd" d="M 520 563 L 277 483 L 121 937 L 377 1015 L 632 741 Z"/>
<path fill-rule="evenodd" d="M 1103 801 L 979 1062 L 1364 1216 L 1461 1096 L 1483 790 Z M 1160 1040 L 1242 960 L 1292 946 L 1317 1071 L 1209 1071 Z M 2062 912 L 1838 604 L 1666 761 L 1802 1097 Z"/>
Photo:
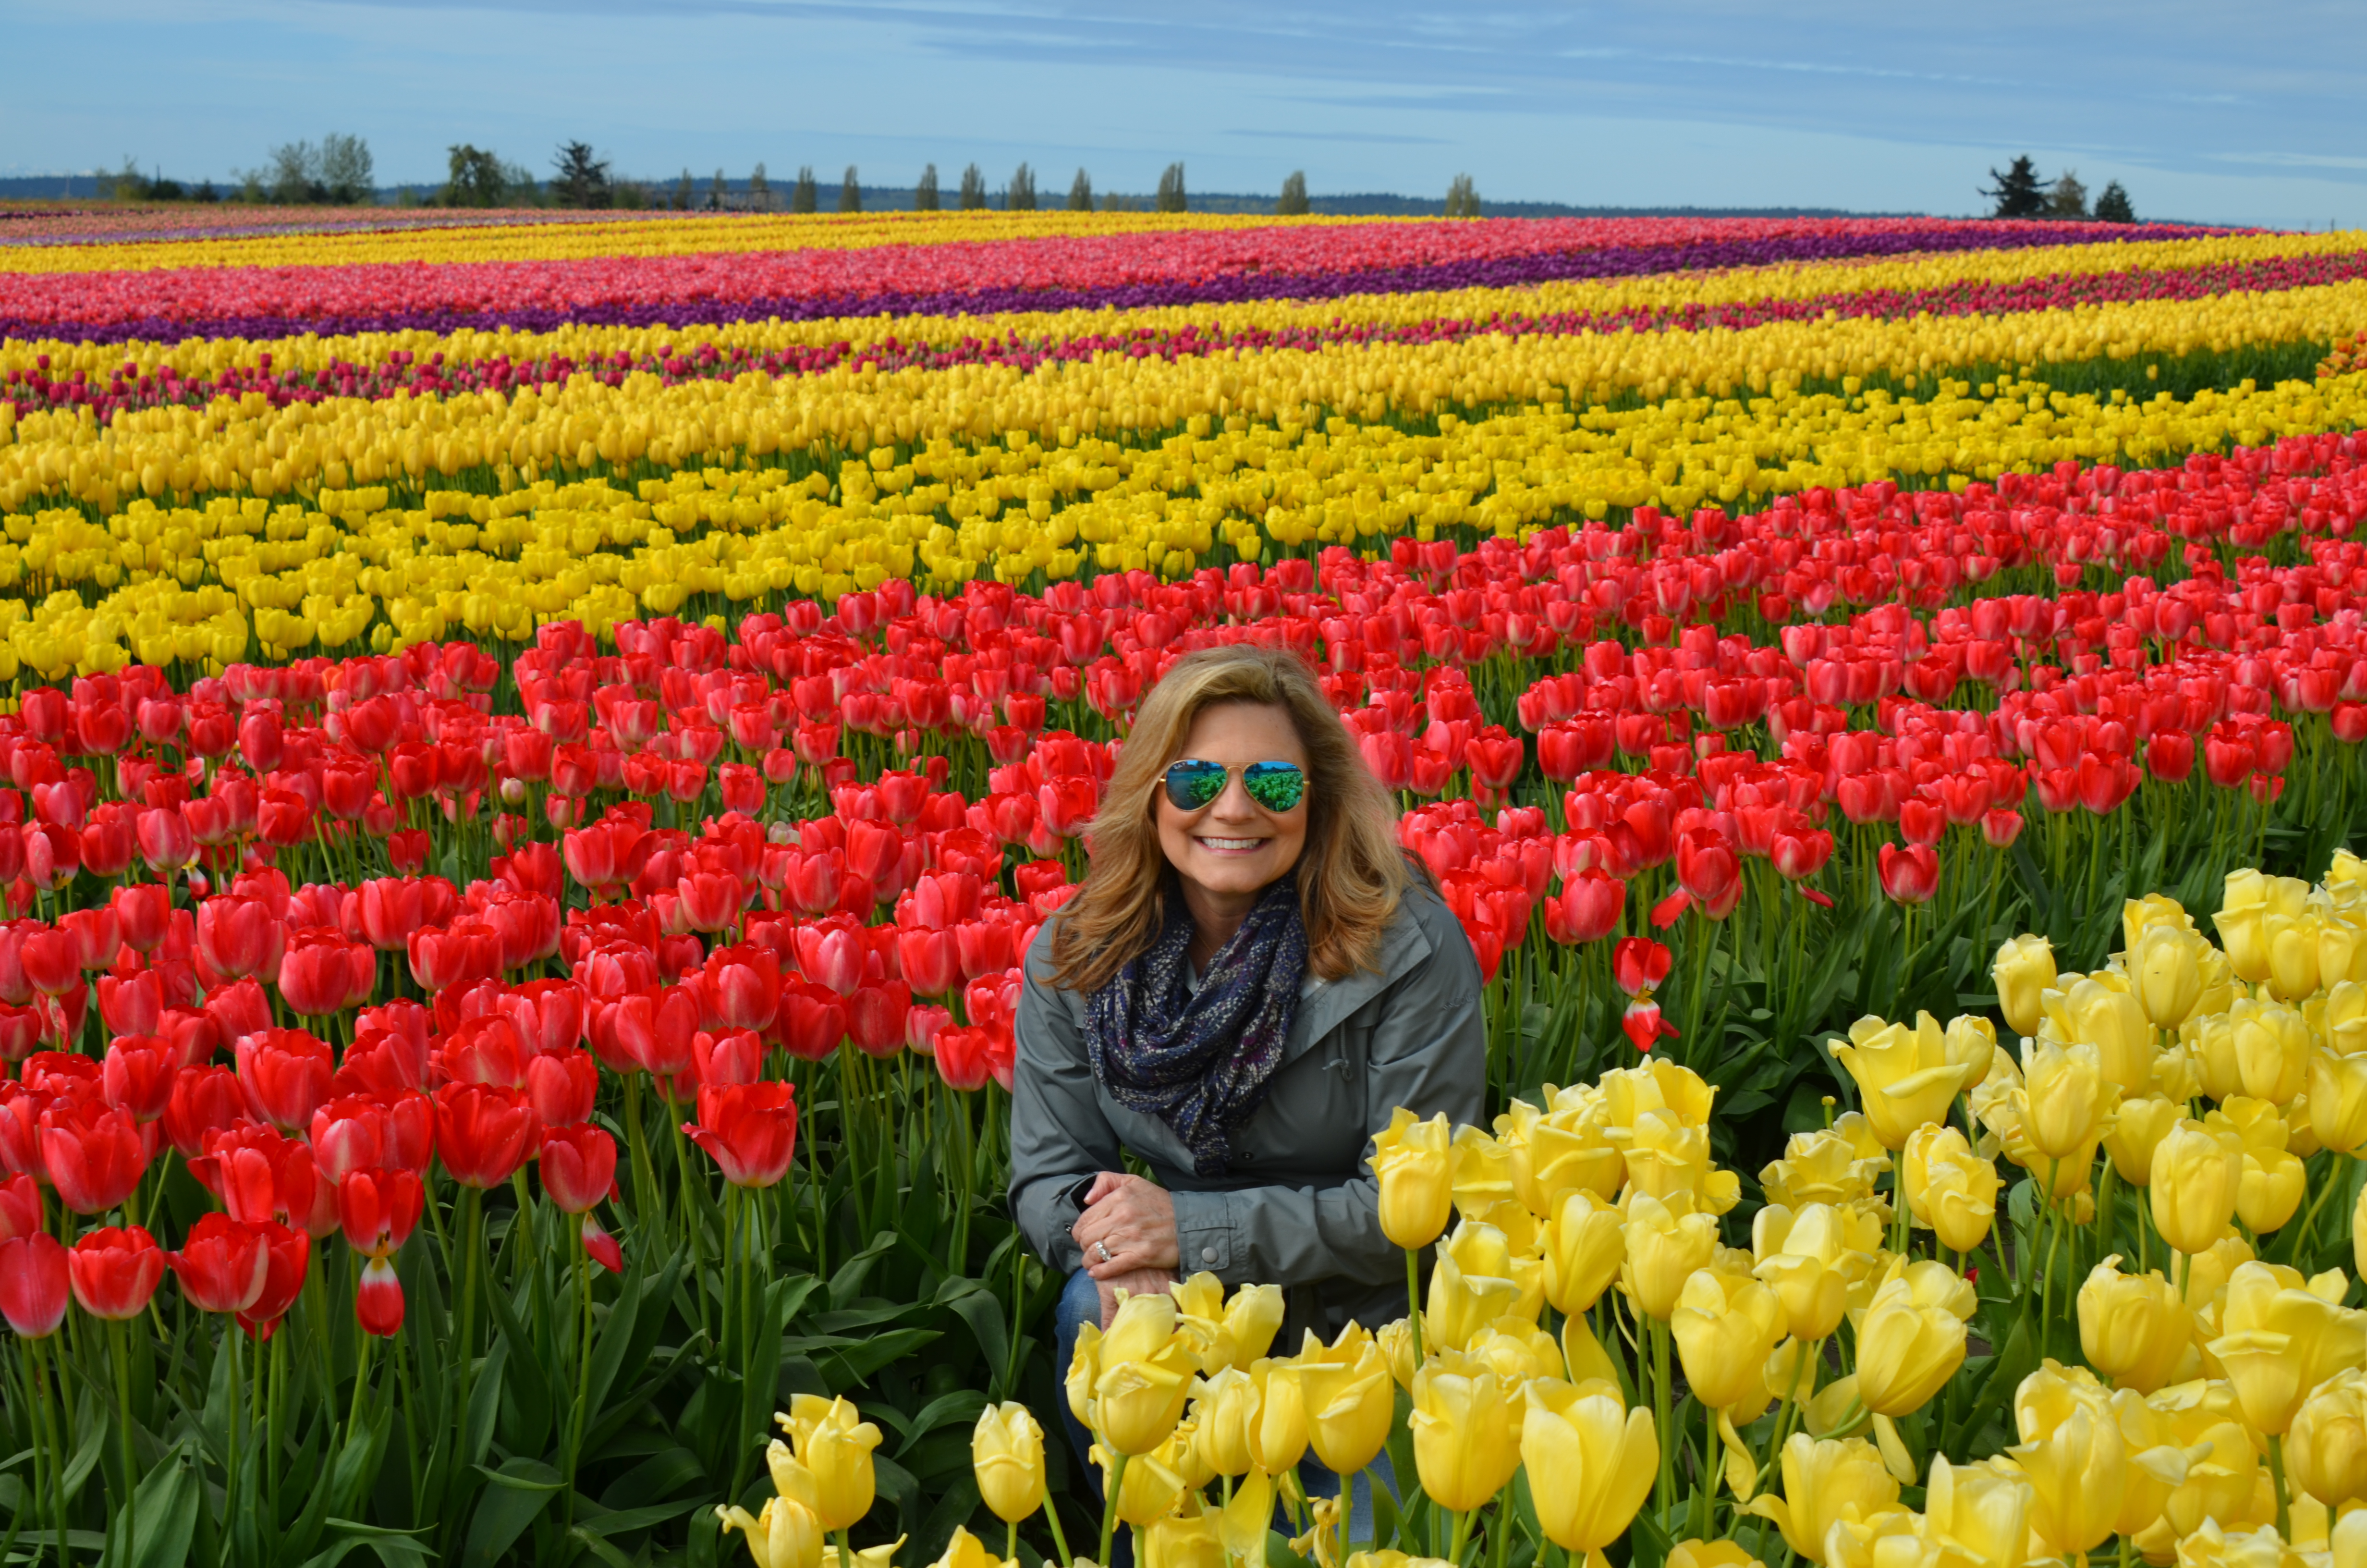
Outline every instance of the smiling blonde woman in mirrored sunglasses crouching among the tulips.
<path fill-rule="evenodd" d="M 1283 1286 L 1283 1355 L 1404 1317 L 1366 1158 L 1397 1106 L 1479 1120 L 1479 964 L 1314 673 L 1179 658 L 1091 855 L 1027 952 L 1011 1101 L 1013 1210 L 1070 1272 L 1056 1367 L 1120 1289 L 1202 1270 Z"/>

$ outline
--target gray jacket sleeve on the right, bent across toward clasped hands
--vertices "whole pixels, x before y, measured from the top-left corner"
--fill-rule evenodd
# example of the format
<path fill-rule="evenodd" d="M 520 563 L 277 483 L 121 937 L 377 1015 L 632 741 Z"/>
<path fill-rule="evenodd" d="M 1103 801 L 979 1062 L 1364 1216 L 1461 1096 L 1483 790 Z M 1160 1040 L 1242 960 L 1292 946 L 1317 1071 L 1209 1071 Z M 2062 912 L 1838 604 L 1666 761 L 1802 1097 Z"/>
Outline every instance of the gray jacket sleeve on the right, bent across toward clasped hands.
<path fill-rule="evenodd" d="M 1486 1101 L 1486 1030 L 1479 1016 L 1479 959 L 1453 914 L 1425 891 L 1423 928 L 1430 957 L 1378 997 L 1363 1073 L 1366 1146 L 1356 1175 L 1340 1187 L 1245 1187 L 1179 1191 L 1176 1236 L 1184 1272 L 1210 1270 L 1226 1284 L 1318 1284 L 1352 1279 L 1382 1286 L 1404 1279 L 1406 1262 L 1380 1232 L 1380 1182 L 1366 1161 L 1370 1135 L 1406 1106 L 1456 1125 L 1477 1123 Z"/>

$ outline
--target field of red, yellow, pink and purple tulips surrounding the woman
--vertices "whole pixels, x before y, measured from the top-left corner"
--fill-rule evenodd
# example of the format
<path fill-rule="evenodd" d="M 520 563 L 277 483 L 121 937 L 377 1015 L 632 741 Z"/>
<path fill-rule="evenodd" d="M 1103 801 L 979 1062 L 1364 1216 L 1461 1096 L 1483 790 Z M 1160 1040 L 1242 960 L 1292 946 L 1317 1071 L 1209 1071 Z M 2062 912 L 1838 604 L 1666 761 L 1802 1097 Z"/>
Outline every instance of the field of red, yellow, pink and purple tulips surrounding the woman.
<path fill-rule="evenodd" d="M 2367 1566 L 2367 237 L 0 216 L 0 1563 Z M 1494 1120 L 1058 1367 L 1226 642 Z"/>

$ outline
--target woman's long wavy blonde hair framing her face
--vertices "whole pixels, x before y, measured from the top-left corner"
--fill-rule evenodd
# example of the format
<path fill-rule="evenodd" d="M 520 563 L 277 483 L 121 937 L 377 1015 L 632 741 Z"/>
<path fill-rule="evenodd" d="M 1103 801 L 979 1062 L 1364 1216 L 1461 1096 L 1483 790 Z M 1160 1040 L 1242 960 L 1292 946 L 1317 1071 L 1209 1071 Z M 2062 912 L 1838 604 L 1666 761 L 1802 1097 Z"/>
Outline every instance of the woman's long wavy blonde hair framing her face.
<path fill-rule="evenodd" d="M 1219 703 L 1281 708 L 1307 748 L 1307 848 L 1295 867 L 1307 966 L 1326 981 L 1378 969 L 1382 931 L 1413 876 L 1397 846 L 1389 791 L 1363 765 L 1304 658 L 1236 644 L 1186 654 L 1143 699 L 1089 829 L 1084 883 L 1053 928 L 1053 983 L 1063 990 L 1101 990 L 1165 926 L 1169 867 L 1157 791 L 1193 720 Z"/>

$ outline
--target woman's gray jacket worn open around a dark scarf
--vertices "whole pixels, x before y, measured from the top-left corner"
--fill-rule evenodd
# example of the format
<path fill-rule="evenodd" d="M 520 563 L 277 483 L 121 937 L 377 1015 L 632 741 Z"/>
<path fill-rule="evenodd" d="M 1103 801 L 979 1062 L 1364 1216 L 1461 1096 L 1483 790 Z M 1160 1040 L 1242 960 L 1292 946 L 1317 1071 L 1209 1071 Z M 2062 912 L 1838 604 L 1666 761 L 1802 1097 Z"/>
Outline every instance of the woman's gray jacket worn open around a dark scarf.
<path fill-rule="evenodd" d="M 1349 1317 L 1368 1329 L 1406 1315 L 1406 1262 L 1380 1232 L 1380 1187 L 1366 1168 L 1389 1111 L 1477 1123 L 1486 1097 L 1479 959 L 1427 886 L 1406 891 L 1380 945 L 1380 969 L 1307 976 L 1283 1063 L 1264 1104 L 1233 1135 L 1233 1170 L 1193 1172 L 1184 1142 L 1155 1116 L 1127 1111 L 1084 1054 L 1084 997 L 1051 985 L 1044 921 L 1027 950 L 1011 1087 L 1011 1208 L 1046 1265 L 1075 1272 L 1072 1187 L 1122 1170 L 1120 1146 L 1174 1194 L 1181 1272 L 1224 1284 L 1278 1284 L 1283 1338 L 1330 1338 Z"/>

